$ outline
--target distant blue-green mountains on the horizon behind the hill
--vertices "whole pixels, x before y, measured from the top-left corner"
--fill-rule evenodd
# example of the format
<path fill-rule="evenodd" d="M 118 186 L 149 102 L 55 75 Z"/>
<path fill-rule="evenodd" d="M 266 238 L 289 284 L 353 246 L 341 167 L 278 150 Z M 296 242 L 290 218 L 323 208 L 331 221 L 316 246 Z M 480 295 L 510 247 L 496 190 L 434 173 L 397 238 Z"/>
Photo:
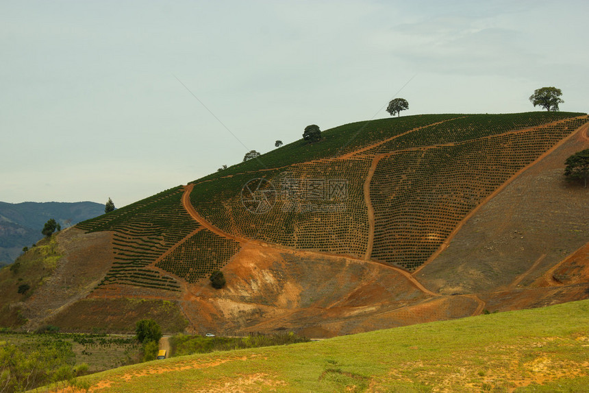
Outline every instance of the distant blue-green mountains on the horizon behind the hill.
<path fill-rule="evenodd" d="M 0 265 L 14 262 L 23 247 L 40 240 L 48 219 L 67 228 L 103 213 L 104 205 L 96 202 L 0 202 Z"/>

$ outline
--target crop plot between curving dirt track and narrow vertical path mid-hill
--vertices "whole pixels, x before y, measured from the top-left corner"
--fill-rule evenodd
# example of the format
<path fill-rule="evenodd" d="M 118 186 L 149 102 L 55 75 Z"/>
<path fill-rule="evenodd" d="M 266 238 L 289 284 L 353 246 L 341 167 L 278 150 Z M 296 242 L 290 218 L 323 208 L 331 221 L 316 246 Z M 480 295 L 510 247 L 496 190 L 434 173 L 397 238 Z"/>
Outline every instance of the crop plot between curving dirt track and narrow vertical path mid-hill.
<path fill-rule="evenodd" d="M 371 161 L 325 160 L 264 171 L 271 209 L 253 212 L 242 197 L 255 176 L 196 184 L 191 201 L 209 222 L 248 239 L 292 248 L 363 256 L 368 216 L 363 186 Z M 255 203 L 253 205 L 255 207 Z"/>

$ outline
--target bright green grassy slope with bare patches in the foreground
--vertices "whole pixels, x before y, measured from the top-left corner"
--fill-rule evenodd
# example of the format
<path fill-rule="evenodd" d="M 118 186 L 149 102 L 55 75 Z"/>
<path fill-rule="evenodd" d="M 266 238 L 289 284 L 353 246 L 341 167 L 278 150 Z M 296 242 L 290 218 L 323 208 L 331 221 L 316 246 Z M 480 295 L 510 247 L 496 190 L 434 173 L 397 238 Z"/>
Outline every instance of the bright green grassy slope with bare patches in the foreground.
<path fill-rule="evenodd" d="M 586 392 L 589 300 L 190 355 L 82 377 L 97 392 Z"/>

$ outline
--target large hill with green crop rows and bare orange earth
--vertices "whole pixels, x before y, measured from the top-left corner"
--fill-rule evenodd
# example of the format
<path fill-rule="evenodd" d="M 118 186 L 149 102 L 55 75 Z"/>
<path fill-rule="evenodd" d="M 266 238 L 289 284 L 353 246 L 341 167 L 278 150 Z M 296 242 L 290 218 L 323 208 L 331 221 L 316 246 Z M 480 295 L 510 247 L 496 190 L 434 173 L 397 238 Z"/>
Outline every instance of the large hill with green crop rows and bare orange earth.
<path fill-rule="evenodd" d="M 0 271 L 3 307 L 23 329 L 129 331 L 141 302 L 168 331 L 331 337 L 587 298 L 588 194 L 562 180 L 587 122 L 418 115 L 326 130 L 64 231 L 34 290 L 12 294 L 27 276 Z"/>

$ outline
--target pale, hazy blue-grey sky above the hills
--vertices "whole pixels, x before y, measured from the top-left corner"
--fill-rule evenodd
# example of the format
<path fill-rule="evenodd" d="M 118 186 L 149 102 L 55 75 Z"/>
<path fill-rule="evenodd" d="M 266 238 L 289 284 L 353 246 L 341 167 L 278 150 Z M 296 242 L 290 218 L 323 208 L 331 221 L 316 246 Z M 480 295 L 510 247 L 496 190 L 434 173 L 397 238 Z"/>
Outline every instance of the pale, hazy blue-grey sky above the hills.
<path fill-rule="evenodd" d="M 0 201 L 117 207 L 401 115 L 589 112 L 586 0 L 0 0 Z"/>

